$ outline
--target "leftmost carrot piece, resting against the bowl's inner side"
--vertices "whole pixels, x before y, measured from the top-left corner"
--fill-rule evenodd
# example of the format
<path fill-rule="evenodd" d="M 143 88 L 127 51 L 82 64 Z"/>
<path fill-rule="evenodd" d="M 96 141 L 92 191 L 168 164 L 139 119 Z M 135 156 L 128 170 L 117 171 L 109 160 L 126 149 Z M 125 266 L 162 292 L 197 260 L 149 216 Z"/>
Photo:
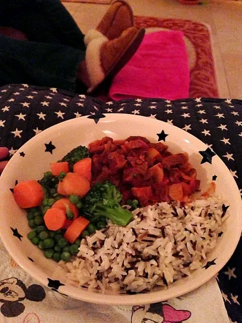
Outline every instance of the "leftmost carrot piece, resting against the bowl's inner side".
<path fill-rule="evenodd" d="M 23 208 L 39 206 L 43 197 L 42 186 L 35 180 L 20 182 L 14 188 L 14 199 Z"/>

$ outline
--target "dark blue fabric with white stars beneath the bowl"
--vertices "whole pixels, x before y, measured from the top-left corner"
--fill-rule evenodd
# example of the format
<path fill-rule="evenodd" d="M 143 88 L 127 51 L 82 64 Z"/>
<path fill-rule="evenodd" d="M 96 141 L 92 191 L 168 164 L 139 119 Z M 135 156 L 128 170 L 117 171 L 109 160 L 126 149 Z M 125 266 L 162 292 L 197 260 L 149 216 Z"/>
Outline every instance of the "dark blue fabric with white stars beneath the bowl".
<path fill-rule="evenodd" d="M 129 99 L 103 103 L 56 88 L 9 85 L 0 88 L 0 146 L 8 147 L 13 155 L 48 127 L 86 115 L 98 121 L 104 113 L 146 116 L 190 132 L 220 156 L 242 195 L 242 100 Z M 242 323 L 242 239 L 217 280 L 231 322 Z"/>

